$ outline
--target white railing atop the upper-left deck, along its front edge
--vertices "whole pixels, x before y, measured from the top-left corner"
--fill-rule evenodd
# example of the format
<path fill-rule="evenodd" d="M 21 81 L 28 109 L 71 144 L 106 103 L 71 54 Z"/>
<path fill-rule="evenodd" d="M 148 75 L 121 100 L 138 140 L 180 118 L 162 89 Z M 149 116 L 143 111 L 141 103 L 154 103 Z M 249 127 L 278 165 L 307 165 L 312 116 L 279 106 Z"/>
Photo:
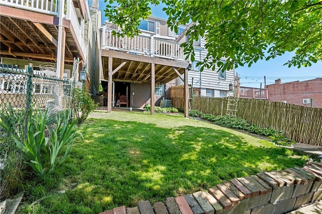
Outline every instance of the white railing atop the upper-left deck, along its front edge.
<path fill-rule="evenodd" d="M 58 1 L 54 0 L 0 0 L 1 5 L 58 16 Z"/>

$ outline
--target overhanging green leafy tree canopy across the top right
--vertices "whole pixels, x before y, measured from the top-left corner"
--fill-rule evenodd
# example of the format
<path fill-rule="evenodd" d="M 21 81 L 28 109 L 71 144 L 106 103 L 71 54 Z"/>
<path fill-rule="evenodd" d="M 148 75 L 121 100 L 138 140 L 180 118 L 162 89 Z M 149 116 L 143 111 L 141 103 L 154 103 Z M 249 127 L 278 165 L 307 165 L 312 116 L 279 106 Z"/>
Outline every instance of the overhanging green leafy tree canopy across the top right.
<path fill-rule="evenodd" d="M 107 2 L 107 0 L 105 0 Z M 117 0 L 109 1 L 105 16 L 123 28 L 124 34 L 139 33 L 140 19 L 151 15 L 150 5 L 163 2 L 168 25 L 178 32 L 179 25 L 195 24 L 182 44 L 187 59 L 194 60 L 193 41 L 205 38 L 208 55 L 204 67 L 232 69 L 259 59 L 269 60 L 287 51 L 295 56 L 285 65 L 310 66 L 322 60 L 322 1 L 194 1 L 194 0 Z M 111 6 L 112 4 L 118 6 Z M 223 64 L 219 60 L 227 58 Z"/>

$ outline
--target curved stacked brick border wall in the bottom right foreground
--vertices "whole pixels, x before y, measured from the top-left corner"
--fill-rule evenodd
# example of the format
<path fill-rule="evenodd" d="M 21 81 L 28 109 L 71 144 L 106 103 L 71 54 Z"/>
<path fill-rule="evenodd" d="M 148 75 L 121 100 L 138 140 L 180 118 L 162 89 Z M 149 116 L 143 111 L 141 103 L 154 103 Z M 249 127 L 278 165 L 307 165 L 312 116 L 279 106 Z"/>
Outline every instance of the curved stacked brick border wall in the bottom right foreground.
<path fill-rule="evenodd" d="M 136 207 L 120 206 L 99 214 L 285 213 L 322 199 L 322 163 L 231 179 L 208 190 L 165 203 L 148 200 Z"/>

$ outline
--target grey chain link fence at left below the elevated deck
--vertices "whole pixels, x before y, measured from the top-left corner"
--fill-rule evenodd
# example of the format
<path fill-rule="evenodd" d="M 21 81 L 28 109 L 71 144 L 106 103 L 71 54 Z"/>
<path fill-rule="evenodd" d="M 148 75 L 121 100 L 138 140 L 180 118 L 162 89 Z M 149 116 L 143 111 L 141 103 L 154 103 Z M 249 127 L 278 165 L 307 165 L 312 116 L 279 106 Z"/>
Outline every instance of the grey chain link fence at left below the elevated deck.
<path fill-rule="evenodd" d="M 1 66 L 0 120 L 17 130 L 15 133 L 19 140 L 26 138 L 31 110 L 38 109 L 42 113 L 47 111 L 46 125 L 53 125 L 58 115 L 64 115 L 66 110 L 71 111 L 74 82 L 74 78 L 56 78 L 56 73 L 50 65 L 43 66 L 40 71 L 34 71 L 32 64 L 29 64 L 26 70 L 15 66 Z M 14 140 L 0 127 L 0 200 L 13 193 L 10 187 L 15 183 L 10 182 L 19 179 L 10 176 L 20 176 L 19 168 L 22 162 L 23 156 Z"/>

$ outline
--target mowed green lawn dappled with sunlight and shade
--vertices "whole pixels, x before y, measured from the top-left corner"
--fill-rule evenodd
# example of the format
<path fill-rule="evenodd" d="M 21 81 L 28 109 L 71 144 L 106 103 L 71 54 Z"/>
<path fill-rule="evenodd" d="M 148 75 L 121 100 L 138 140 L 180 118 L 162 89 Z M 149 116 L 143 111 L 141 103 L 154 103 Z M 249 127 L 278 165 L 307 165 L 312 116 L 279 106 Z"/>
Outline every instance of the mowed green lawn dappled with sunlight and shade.
<path fill-rule="evenodd" d="M 85 141 L 45 183 L 24 185 L 22 212 L 98 213 L 305 163 L 268 140 L 182 116 L 93 113 L 78 130 Z"/>

